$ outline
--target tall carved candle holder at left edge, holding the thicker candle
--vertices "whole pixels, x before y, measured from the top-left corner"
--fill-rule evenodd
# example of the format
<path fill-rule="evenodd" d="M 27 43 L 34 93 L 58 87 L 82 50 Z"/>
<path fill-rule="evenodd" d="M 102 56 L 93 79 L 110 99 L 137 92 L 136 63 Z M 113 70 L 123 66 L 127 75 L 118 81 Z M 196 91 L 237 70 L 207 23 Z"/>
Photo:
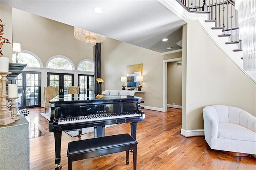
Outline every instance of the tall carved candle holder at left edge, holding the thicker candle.
<path fill-rule="evenodd" d="M 2 82 L 2 92 L 0 94 L 0 126 L 9 125 L 11 123 L 14 123 L 15 121 L 12 119 L 11 111 L 7 108 L 8 101 L 6 100 L 6 76 L 8 74 L 11 74 L 10 72 L 0 72 L 0 75 L 2 76 L 1 82 Z"/>

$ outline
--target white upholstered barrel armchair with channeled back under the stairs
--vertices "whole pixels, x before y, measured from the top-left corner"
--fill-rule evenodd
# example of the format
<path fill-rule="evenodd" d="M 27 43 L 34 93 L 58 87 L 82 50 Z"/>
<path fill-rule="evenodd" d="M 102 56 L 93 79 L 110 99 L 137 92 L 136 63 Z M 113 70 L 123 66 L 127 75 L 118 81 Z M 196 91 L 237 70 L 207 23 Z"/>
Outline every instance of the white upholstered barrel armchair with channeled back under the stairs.
<path fill-rule="evenodd" d="M 256 117 L 237 107 L 203 109 L 204 137 L 211 149 L 256 154 Z"/>

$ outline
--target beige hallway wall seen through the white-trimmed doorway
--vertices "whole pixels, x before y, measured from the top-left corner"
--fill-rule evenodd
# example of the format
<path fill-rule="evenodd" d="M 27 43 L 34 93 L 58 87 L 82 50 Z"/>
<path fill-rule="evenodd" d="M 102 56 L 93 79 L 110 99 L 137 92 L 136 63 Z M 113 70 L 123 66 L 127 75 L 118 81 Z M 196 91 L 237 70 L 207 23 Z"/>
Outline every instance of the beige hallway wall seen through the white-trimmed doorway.
<path fill-rule="evenodd" d="M 182 66 L 177 66 L 180 62 L 167 63 L 167 105 L 181 106 Z"/>

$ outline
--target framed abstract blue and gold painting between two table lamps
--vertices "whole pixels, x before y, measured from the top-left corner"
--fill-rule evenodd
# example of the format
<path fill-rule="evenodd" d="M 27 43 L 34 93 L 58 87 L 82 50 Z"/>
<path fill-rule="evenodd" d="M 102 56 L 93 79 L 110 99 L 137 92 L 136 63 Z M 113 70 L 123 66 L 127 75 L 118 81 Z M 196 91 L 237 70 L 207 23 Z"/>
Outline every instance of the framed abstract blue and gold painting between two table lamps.
<path fill-rule="evenodd" d="M 136 81 L 136 75 L 142 75 L 142 64 L 127 65 L 127 87 L 136 88 L 140 82 Z M 140 83 L 142 85 L 142 82 Z"/>

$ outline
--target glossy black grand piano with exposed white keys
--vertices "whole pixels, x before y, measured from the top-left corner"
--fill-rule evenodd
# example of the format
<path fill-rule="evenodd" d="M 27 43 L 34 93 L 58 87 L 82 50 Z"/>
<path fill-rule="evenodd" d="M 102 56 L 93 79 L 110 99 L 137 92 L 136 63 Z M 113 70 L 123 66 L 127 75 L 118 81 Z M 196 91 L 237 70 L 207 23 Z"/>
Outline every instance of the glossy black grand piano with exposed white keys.
<path fill-rule="evenodd" d="M 138 121 L 144 121 L 140 97 L 84 94 L 58 95 L 50 101 L 49 130 L 54 132 L 55 169 L 60 169 L 62 130 L 94 127 L 94 137 L 104 136 L 105 125 L 130 123 L 131 136 L 136 139 Z"/>

